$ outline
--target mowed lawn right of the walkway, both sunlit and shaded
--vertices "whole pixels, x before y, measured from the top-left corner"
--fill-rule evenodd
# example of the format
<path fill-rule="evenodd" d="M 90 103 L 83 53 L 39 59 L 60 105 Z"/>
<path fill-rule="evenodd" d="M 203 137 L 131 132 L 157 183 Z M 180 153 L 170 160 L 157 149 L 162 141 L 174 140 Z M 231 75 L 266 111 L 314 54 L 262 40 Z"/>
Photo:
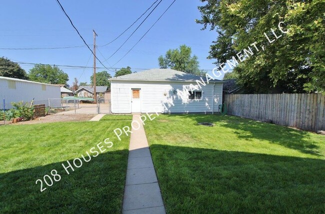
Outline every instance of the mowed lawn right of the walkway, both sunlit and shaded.
<path fill-rule="evenodd" d="M 325 212 L 323 135 L 222 115 L 144 128 L 167 213 Z"/>

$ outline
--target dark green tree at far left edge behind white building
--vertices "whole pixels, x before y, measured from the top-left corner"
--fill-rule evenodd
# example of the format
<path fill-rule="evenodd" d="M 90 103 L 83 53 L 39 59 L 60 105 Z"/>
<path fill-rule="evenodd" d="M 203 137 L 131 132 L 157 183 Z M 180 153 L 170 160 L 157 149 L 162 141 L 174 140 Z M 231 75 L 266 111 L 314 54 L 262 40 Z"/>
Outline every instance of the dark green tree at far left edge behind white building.
<path fill-rule="evenodd" d="M 26 71 L 19 64 L 4 57 L 0 57 L 0 76 L 28 79 Z"/>

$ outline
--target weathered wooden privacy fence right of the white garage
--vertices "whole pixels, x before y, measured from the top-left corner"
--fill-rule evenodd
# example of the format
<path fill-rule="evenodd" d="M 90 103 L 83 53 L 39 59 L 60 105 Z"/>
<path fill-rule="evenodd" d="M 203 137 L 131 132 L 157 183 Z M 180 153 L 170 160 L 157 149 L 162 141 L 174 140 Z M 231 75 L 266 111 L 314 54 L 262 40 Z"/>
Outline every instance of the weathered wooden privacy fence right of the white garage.
<path fill-rule="evenodd" d="M 225 94 L 228 114 L 297 127 L 325 130 L 325 96 L 320 93 Z"/>

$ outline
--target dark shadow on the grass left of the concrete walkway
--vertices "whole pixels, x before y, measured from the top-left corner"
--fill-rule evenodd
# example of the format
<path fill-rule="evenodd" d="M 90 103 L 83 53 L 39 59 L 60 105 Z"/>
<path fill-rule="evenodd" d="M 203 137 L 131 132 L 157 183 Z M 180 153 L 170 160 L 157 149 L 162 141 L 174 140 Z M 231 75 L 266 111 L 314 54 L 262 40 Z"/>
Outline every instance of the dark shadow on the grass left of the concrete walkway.
<path fill-rule="evenodd" d="M 0 212 L 10 213 L 120 213 L 127 167 L 128 150 L 111 151 L 91 157 L 82 166 L 69 168 L 66 161 L 0 174 Z M 88 156 L 84 154 L 85 158 Z M 78 161 L 76 161 L 79 164 Z M 40 192 L 45 174 L 56 169 L 61 179 Z M 50 175 L 53 178 L 53 176 Z M 50 182 L 46 178 L 47 182 Z"/>

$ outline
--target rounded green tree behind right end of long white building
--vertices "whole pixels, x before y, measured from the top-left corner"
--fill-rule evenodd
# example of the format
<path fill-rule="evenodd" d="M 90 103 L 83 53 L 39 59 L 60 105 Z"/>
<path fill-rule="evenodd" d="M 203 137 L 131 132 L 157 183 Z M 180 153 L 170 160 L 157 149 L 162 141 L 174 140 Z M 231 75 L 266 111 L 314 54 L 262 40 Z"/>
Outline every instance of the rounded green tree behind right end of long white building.
<path fill-rule="evenodd" d="M 35 66 L 29 70 L 29 79 L 50 84 L 66 85 L 69 77 L 67 73 L 63 72 L 63 70 L 56 65 L 35 64 Z"/>

